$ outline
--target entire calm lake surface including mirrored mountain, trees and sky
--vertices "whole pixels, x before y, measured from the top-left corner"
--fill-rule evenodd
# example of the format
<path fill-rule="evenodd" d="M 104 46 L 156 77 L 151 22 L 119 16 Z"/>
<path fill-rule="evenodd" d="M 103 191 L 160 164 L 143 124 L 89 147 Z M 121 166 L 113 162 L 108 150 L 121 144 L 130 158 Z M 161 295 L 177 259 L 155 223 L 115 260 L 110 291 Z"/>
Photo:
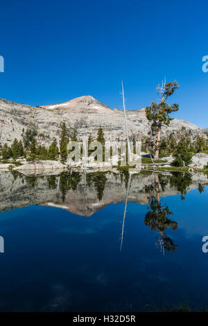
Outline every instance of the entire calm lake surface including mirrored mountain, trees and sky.
<path fill-rule="evenodd" d="M 0 311 L 208 309 L 206 175 L 0 182 Z"/>

